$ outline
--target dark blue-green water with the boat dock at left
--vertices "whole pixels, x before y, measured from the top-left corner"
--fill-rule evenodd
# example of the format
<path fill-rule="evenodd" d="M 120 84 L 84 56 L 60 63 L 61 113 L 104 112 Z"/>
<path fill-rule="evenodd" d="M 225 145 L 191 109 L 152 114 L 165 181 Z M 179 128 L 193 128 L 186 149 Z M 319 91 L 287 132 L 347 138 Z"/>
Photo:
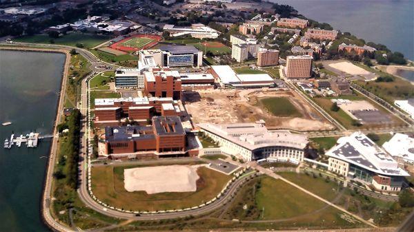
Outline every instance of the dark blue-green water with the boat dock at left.
<path fill-rule="evenodd" d="M 65 56 L 0 50 L 0 231 L 49 231 L 40 201 L 50 140 L 3 149 L 3 140 L 30 130 L 51 134 Z"/>

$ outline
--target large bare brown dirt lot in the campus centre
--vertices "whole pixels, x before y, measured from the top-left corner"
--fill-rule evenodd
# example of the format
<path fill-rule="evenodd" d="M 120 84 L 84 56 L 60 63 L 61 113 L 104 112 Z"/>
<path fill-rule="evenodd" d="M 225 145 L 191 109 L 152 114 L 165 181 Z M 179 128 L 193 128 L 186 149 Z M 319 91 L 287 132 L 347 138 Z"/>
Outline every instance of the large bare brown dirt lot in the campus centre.
<path fill-rule="evenodd" d="M 302 116 L 274 116 L 260 103 L 260 98 L 285 97 Z M 253 123 L 263 119 L 268 129 L 315 131 L 334 129 L 333 125 L 291 91 L 204 90 L 184 92 L 184 104 L 193 123 Z M 284 107 L 281 105 L 280 107 Z"/>

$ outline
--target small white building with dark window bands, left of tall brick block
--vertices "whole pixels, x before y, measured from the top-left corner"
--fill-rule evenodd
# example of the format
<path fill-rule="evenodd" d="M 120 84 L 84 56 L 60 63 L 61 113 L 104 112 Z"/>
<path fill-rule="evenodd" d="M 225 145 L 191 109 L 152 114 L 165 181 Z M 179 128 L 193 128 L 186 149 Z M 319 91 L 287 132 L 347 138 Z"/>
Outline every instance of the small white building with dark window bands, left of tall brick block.
<path fill-rule="evenodd" d="M 144 89 L 144 75 L 139 69 L 119 69 L 115 71 L 116 89 Z"/>

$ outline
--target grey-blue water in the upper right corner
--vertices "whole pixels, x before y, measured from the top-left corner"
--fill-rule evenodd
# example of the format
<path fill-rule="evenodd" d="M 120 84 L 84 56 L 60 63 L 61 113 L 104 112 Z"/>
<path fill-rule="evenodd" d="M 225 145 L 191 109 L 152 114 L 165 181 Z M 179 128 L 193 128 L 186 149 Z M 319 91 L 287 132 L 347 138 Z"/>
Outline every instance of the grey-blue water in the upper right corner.
<path fill-rule="evenodd" d="M 414 60 L 413 0 L 269 0 Z"/>

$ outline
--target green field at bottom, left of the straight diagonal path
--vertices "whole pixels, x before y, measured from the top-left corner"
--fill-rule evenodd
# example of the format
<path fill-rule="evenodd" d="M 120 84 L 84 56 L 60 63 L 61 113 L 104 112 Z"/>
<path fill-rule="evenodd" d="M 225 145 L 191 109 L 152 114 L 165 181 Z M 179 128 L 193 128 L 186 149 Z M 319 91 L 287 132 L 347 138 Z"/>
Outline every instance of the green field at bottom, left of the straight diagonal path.
<path fill-rule="evenodd" d="M 279 220 L 268 228 L 297 229 L 360 226 L 340 218 L 342 213 L 324 202 L 268 176 L 244 185 L 230 205 L 226 218 L 239 220 Z M 302 229 L 304 229 L 302 227 Z"/>

